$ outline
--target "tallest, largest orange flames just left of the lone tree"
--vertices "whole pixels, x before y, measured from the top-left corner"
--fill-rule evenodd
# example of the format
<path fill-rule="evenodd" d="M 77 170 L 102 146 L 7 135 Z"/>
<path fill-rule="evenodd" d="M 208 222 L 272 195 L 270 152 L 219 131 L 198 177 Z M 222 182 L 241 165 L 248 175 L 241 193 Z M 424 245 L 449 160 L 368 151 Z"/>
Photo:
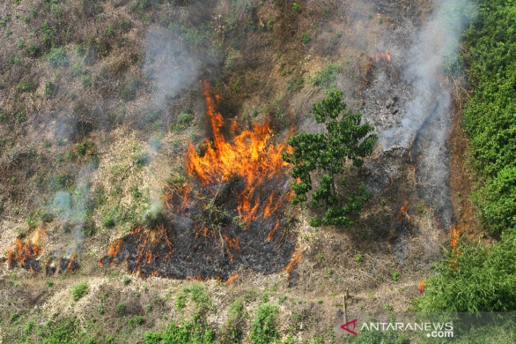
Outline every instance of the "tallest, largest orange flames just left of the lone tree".
<path fill-rule="evenodd" d="M 231 121 L 231 141 L 222 134 L 222 114 L 217 112 L 218 95 L 213 95 L 209 83 L 204 82 L 204 97 L 213 131 L 213 143 L 206 140 L 206 152 L 199 155 L 192 143 L 187 154 L 187 171 L 201 186 L 220 184 L 236 176 L 245 183 L 239 196 L 238 214 L 249 222 L 269 217 L 281 206 L 281 197 L 274 191 L 262 200 L 257 192 L 263 184 L 283 174 L 286 162 L 281 153 L 288 150 L 286 143 L 273 143 L 274 132 L 269 124 L 255 125 L 252 130 L 237 134 L 237 124 Z M 265 202 L 264 202 L 265 201 Z"/>

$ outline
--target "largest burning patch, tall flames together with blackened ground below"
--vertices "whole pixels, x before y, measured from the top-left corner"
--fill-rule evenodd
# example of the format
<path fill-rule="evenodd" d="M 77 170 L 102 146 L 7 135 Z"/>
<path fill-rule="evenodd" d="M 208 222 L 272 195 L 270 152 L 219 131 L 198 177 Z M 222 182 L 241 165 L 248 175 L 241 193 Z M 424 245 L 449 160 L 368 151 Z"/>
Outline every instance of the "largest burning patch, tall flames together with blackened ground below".
<path fill-rule="evenodd" d="M 240 265 L 272 273 L 291 261 L 294 238 L 281 210 L 292 196 L 285 140 L 278 143 L 268 124 L 226 128 L 206 81 L 204 97 L 213 136 L 189 144 L 192 181 L 171 183 L 168 211 L 113 242 L 100 266 L 126 262 L 142 277 L 233 280 Z"/>

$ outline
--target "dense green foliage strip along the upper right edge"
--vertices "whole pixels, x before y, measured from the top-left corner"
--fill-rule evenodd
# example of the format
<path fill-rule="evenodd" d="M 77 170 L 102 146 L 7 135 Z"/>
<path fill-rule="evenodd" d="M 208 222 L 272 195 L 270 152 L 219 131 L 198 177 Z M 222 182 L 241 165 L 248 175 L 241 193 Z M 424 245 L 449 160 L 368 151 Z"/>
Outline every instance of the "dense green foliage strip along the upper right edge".
<path fill-rule="evenodd" d="M 464 105 L 471 162 L 483 179 L 474 201 L 492 234 L 516 228 L 516 7 L 479 1 L 478 18 L 466 32 L 469 81 Z"/>

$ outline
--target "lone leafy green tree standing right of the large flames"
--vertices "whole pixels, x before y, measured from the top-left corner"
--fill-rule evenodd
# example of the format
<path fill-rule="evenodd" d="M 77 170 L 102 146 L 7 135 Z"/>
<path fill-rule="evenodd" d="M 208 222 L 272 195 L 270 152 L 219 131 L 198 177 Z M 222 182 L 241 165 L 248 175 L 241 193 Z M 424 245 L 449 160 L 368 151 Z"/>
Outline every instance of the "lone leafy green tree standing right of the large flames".
<path fill-rule="evenodd" d="M 346 198 L 339 195 L 336 177 L 344 173 L 347 160 L 353 166 L 363 165 L 363 158 L 373 152 L 377 136 L 370 134 L 374 128 L 360 124 L 362 115 L 350 112 L 342 101 L 342 91 L 331 90 L 320 102 L 315 102 L 312 114 L 319 124 L 326 126 L 326 133 L 301 133 L 288 140 L 293 153 L 283 153 L 283 160 L 293 164 L 291 176 L 293 203 L 305 203 L 312 190 L 312 174 L 322 173 L 319 186 L 312 192 L 312 203 L 324 208 L 322 218 L 313 218 L 310 225 L 353 225 L 351 216 L 358 213 L 369 195 L 364 186 Z M 342 184 L 342 182 L 341 182 Z M 344 201 L 343 201 L 344 198 Z"/>

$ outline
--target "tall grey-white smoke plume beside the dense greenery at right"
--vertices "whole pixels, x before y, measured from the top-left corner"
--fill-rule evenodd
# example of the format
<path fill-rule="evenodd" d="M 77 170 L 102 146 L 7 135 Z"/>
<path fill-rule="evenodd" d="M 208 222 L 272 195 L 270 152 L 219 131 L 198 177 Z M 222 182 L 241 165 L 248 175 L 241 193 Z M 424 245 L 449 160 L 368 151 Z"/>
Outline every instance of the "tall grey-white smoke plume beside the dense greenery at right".
<path fill-rule="evenodd" d="M 403 73 L 410 85 L 400 126 L 385 132 L 385 150 L 411 148 L 418 170 L 418 194 L 428 203 L 447 230 L 454 221 L 448 186 L 450 154 L 447 136 L 451 127 L 451 85 L 442 71 L 445 60 L 458 53 L 464 28 L 474 9 L 467 0 L 434 1 L 435 10 L 418 32 L 406 58 Z"/>

